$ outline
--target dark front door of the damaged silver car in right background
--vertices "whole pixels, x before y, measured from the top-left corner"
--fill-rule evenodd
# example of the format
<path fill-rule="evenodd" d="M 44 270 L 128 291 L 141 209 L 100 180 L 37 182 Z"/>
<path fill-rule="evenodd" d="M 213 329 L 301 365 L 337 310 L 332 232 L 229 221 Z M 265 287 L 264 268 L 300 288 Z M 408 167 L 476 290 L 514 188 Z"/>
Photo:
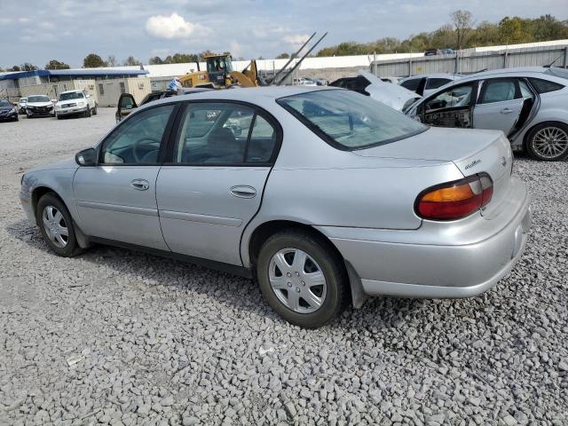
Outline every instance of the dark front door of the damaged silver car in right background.
<path fill-rule="evenodd" d="M 430 126 L 471 128 L 476 93 L 476 82 L 454 85 L 422 102 L 417 114 Z"/>

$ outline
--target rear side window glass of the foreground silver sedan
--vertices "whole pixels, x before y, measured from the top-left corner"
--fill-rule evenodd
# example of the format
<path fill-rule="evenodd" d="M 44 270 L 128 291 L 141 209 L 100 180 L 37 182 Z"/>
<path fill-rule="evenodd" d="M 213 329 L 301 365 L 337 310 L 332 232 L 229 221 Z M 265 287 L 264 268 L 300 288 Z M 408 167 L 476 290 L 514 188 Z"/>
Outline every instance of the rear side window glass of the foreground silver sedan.
<path fill-rule="evenodd" d="M 189 104 L 174 146 L 174 162 L 241 165 L 270 162 L 277 132 L 255 108 L 237 103 Z"/>

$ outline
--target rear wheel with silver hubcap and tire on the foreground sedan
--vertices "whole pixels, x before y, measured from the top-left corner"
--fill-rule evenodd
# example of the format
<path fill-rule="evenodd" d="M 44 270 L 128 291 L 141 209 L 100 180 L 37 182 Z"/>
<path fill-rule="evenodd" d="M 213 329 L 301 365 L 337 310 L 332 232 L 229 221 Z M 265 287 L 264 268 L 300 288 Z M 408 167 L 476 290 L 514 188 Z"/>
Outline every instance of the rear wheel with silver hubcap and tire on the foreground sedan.
<path fill-rule="evenodd" d="M 272 235 L 260 249 L 256 275 L 272 309 L 299 327 L 321 327 L 349 302 L 343 259 L 312 233 Z"/>

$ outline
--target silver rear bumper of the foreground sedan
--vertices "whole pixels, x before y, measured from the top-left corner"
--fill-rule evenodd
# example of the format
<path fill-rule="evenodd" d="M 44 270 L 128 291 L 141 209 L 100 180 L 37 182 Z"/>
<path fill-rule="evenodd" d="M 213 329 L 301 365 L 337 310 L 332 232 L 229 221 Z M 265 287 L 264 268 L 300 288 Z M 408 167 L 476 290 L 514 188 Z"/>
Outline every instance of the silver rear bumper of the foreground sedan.
<path fill-rule="evenodd" d="M 319 230 L 357 272 L 368 296 L 470 297 L 492 288 L 525 249 L 532 212 L 522 182 L 511 179 L 499 210 L 491 218 L 475 215 L 454 224 L 425 221 L 414 231 Z"/>

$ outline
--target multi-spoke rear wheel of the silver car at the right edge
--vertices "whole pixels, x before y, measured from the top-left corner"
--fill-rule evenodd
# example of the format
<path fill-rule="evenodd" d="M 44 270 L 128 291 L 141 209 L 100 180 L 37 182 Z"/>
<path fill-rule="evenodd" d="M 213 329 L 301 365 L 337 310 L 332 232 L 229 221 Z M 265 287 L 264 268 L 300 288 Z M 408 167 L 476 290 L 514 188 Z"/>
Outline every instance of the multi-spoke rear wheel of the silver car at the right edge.
<path fill-rule="evenodd" d="M 560 122 L 543 122 L 526 138 L 526 149 L 533 158 L 556 162 L 568 155 L 568 126 Z"/>

